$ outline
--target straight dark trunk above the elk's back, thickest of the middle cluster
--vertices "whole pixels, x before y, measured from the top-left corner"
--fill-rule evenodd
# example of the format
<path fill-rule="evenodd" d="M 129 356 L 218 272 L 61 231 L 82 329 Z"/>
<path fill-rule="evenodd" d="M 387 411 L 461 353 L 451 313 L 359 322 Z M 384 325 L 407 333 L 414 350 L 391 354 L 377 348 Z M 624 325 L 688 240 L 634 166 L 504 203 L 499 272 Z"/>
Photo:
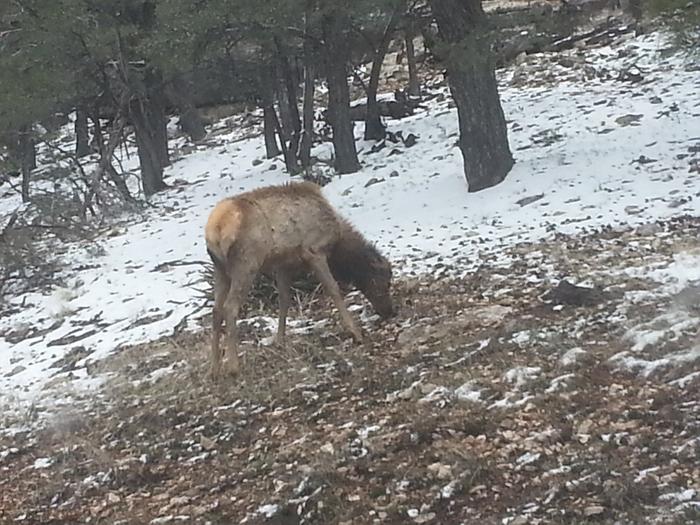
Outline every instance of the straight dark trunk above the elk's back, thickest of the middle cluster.
<path fill-rule="evenodd" d="M 324 17 L 326 75 L 328 80 L 328 120 L 333 130 L 335 169 L 338 173 L 354 173 L 360 169 L 355 148 L 353 123 L 350 119 L 350 90 L 347 63 L 349 44 L 347 18 L 337 12 Z"/>

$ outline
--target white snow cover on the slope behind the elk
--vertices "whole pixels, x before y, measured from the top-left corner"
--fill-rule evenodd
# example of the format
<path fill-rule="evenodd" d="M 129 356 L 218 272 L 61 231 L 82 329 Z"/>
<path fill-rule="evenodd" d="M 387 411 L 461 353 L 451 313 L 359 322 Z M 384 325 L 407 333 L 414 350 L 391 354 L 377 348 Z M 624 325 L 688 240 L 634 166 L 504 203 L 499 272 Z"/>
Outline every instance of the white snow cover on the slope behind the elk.
<path fill-rule="evenodd" d="M 456 111 L 442 91 L 427 109 L 389 122 L 391 131 L 417 135 L 415 146 L 387 143 L 371 153 L 374 144 L 358 140 L 363 169 L 334 177 L 324 192 L 403 273 L 437 263 L 466 273 L 522 241 L 697 216 L 700 75 L 684 55 L 664 49 L 654 34 L 572 53 L 573 65 L 538 56 L 500 72 L 516 165 L 497 187 L 467 192 Z M 641 82 L 618 78 L 631 65 L 642 71 Z M 210 209 L 224 196 L 289 180 L 279 159 L 264 158 L 261 137 L 239 140 L 238 133 L 217 135 L 216 145 L 174 162 L 167 171 L 172 189 L 153 200 L 144 220 L 100 239 L 99 255 L 94 243 L 71 245 L 61 288 L 9 299 L 19 308 L 0 320 L 3 413 L 55 402 L 58 391 L 96 388 L 91 361 L 170 334 L 185 318 L 195 325 L 204 312 L 192 315 L 202 298 L 190 285 L 202 277 Z M 322 145 L 315 153 L 327 158 L 329 151 Z M 129 162 L 127 169 L 135 156 Z M 17 199 L 0 200 L 0 214 L 15 209 Z M 679 253 L 677 261 L 686 280 L 700 278 L 700 254 Z M 96 267 L 72 270 L 86 264 Z M 649 271 L 659 279 L 674 274 Z M 655 337 L 642 328 L 630 333 L 631 351 Z M 8 341 L 23 330 L 30 335 Z M 77 366 L 61 372 L 67 355 L 78 356 Z M 629 359 L 620 356 L 635 366 Z"/>

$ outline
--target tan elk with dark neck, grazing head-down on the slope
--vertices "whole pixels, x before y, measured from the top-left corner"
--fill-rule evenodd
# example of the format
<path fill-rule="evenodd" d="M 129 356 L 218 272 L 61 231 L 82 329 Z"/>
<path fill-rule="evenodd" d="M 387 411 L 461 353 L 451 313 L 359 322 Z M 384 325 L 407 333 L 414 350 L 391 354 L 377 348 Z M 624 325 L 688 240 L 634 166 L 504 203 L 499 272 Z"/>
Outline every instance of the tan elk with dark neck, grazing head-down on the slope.
<path fill-rule="evenodd" d="M 285 344 L 291 282 L 310 271 L 335 303 L 353 338 L 362 333 L 343 301 L 338 283 L 355 286 L 377 313 L 393 315 L 391 264 L 340 217 L 312 183 L 268 186 L 220 201 L 205 227 L 207 252 L 214 263 L 211 376 L 221 373 L 219 346 L 224 320 L 230 352 L 228 369 L 240 371 L 236 321 L 255 278 L 275 280 L 279 323 L 275 343 Z"/>

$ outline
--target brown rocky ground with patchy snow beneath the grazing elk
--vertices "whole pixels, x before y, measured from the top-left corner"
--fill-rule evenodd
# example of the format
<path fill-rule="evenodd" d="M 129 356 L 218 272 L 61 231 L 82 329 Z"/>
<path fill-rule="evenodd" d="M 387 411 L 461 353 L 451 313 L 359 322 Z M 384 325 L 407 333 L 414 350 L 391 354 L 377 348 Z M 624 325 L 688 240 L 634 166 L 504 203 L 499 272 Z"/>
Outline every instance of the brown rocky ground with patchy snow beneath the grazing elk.
<path fill-rule="evenodd" d="M 397 282 L 391 322 L 351 296 L 362 345 L 307 294 L 289 348 L 257 312 L 219 384 L 204 329 L 122 351 L 103 393 L 0 438 L 0 521 L 697 522 L 700 281 L 673 270 L 699 226 L 438 264 Z"/>

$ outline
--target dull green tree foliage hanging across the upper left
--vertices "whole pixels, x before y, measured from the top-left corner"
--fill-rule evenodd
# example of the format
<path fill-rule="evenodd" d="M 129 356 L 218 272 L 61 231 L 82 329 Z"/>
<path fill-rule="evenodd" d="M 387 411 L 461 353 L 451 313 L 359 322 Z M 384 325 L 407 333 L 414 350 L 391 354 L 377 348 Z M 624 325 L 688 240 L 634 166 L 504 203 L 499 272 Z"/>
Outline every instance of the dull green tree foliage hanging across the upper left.
<path fill-rule="evenodd" d="M 381 31 L 397 1 L 4 0 L 0 132 L 95 100 L 120 59 L 155 65 L 166 79 L 240 63 L 248 70 L 230 66 L 235 74 L 250 75 L 273 57 L 275 39 L 301 53 L 311 27 L 322 45 L 318 28 L 328 14 L 366 38 Z"/>

